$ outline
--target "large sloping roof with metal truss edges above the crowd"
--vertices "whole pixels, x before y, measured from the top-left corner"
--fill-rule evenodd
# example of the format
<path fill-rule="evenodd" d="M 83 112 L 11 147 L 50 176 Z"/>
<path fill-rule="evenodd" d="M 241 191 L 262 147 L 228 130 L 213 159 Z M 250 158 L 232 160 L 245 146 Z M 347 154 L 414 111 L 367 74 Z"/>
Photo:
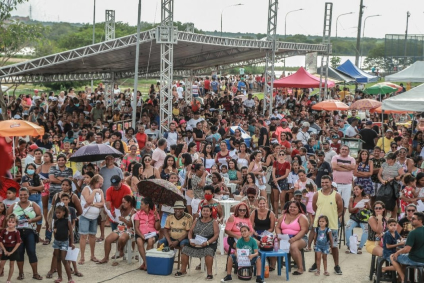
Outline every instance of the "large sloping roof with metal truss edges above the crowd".
<path fill-rule="evenodd" d="M 0 68 L 0 82 L 110 79 L 133 76 L 136 34 L 79 47 Z M 272 41 L 177 32 L 173 48 L 174 75 L 199 75 L 265 61 Z M 156 29 L 140 32 L 139 75 L 158 76 L 160 45 Z M 323 44 L 277 42 L 276 59 L 324 52 Z"/>

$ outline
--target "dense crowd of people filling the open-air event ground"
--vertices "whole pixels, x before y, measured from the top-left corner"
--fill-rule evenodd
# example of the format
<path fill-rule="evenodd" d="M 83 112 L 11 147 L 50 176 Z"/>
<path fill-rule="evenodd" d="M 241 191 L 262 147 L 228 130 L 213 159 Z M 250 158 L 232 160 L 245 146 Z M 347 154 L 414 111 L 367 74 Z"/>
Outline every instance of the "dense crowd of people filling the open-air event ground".
<path fill-rule="evenodd" d="M 18 279 L 24 278 L 25 251 L 33 278 L 42 279 L 37 242 L 52 244 L 54 249 L 46 277 L 57 271 L 56 281 L 63 280 L 63 265 L 72 283 L 72 275 L 83 276 L 79 269 L 86 261 L 87 243 L 90 261 L 102 264 L 109 260 L 112 242 L 118 246 L 112 258 L 119 258 L 132 238 L 143 259 L 140 269 L 147 270 L 146 250 L 158 242 L 182 247 L 182 267 L 176 277 L 187 273 L 189 256 L 205 257 L 210 280 L 220 225 L 225 225 L 231 248 L 250 249 L 256 282 L 263 282 L 257 240 L 264 231 L 290 235 L 290 253 L 297 265 L 294 275 L 305 271 L 302 249 L 315 250 L 309 271 L 316 275 L 321 260 L 323 274 L 330 275 L 327 254 L 331 250 L 334 271 L 340 275 L 338 229 L 346 210 L 350 215 L 346 253 L 352 253 L 353 229 L 361 227 L 355 253 L 362 254 L 365 246 L 368 252 L 384 256 L 402 278 L 402 268 L 395 262 L 424 265 L 424 216 L 417 208 L 424 200 L 424 115 L 384 114 L 381 120 L 376 113 L 356 110 L 315 111 L 312 106 L 319 97 L 312 94 L 314 90 L 296 88 L 277 90 L 270 112 L 263 109 L 263 99 L 252 95 L 262 89 L 263 76 L 206 76 L 194 80 L 192 93 L 185 93 L 184 81 L 173 82 L 173 119 L 169 130 L 161 131 L 159 87 L 152 84 L 147 98 L 137 91 L 135 109 L 131 89 L 121 90 L 117 84 L 110 90 L 111 100 L 101 84 L 77 92 L 74 88 L 59 93 L 35 90 L 8 97 L 9 118 L 45 129 L 42 136 L 15 137 L 16 147 L 10 152 L 15 165 L 6 176 L 20 186 L 3 187 L 7 194 L 0 203 L 0 268 L 10 260 L 8 281 L 14 261 Z M 347 87 L 341 90 L 339 85 L 330 95 L 348 104 L 384 98 L 350 92 Z M 128 121 L 133 111 L 135 125 Z M 362 149 L 351 150 L 344 137 L 362 139 Z M 11 143 L 12 138 L 5 141 Z M 102 143 L 122 156 L 69 161 L 79 148 Z M 186 204 L 158 205 L 144 197 L 137 183 L 159 178 L 175 184 Z M 387 198 L 389 189 L 394 193 Z M 224 217 L 219 200 L 228 197 L 241 202 Z M 388 201 L 380 201 L 383 197 Z M 114 216 L 119 209 L 119 223 L 109 219 L 106 209 Z M 390 219 L 386 212 L 391 213 Z M 156 235 L 146 237 L 152 232 Z M 13 241 L 4 233 L 13 233 Z M 397 250 L 388 234 L 408 238 L 405 247 Z M 200 245 L 189 241 L 196 236 L 206 240 Z M 66 251 L 76 242 L 80 258 L 68 262 Z M 99 242 L 104 244 L 100 260 L 94 252 Z M 235 260 L 236 256 L 228 258 L 230 271 L 222 282 L 232 279 Z M 275 264 L 271 258 L 270 270 Z"/>

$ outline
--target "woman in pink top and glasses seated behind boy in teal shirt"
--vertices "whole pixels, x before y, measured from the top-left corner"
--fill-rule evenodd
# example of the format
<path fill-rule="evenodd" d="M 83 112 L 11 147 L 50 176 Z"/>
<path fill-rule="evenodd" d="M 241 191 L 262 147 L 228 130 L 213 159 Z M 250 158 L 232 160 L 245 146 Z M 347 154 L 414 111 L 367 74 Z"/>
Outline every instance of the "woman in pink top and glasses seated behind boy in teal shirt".
<path fill-rule="evenodd" d="M 233 248 L 236 248 L 236 240 L 241 238 L 241 226 L 249 226 L 250 235 L 253 235 L 253 227 L 249 218 L 249 207 L 244 202 L 240 202 L 234 209 L 234 215 L 231 215 L 225 224 L 225 233 L 228 235 L 227 242 Z"/>

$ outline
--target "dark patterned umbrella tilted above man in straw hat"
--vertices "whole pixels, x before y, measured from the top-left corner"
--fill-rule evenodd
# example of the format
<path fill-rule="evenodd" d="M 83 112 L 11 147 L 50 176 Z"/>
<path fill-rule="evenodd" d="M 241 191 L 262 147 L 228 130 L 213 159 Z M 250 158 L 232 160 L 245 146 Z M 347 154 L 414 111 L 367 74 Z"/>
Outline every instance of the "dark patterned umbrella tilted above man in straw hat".
<path fill-rule="evenodd" d="M 141 180 L 137 184 L 142 196 L 150 197 L 154 203 L 174 206 L 175 201 L 186 201 L 183 193 L 171 182 L 163 179 Z"/>

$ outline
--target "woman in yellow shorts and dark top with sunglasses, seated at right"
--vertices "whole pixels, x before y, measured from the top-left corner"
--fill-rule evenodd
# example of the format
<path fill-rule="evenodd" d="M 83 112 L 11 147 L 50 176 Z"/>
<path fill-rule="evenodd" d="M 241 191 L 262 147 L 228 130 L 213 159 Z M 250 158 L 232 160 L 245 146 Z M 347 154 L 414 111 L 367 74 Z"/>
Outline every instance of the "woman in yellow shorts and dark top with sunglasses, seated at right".
<path fill-rule="evenodd" d="M 365 249 L 373 254 L 382 256 L 383 247 L 380 241 L 383 240 L 383 235 L 387 231 L 386 209 L 383 201 L 374 202 L 373 215 L 368 219 L 368 239 L 365 243 Z"/>

